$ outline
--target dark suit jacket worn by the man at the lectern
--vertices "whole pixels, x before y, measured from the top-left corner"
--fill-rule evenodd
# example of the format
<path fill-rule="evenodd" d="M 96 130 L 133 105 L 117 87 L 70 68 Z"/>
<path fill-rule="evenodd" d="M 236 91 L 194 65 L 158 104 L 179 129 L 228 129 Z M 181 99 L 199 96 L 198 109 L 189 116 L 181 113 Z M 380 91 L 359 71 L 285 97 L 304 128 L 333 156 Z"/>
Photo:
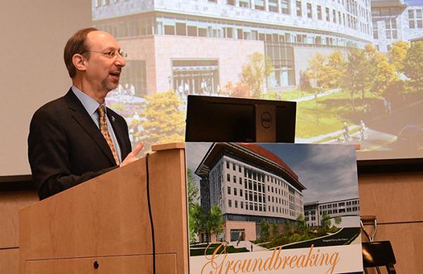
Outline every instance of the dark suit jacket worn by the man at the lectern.
<path fill-rule="evenodd" d="M 128 125 L 111 109 L 106 112 L 124 159 L 131 151 Z M 39 199 L 117 168 L 106 139 L 71 89 L 32 116 L 28 158 Z"/>

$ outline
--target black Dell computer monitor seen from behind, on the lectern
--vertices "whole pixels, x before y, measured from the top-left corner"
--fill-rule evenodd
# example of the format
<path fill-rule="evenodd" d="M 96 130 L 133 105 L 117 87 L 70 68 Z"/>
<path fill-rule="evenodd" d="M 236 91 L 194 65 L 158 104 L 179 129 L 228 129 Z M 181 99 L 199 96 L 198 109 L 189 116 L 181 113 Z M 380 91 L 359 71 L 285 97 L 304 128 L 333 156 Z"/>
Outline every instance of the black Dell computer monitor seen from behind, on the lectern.
<path fill-rule="evenodd" d="M 295 140 L 297 104 L 213 96 L 188 96 L 186 142 Z"/>

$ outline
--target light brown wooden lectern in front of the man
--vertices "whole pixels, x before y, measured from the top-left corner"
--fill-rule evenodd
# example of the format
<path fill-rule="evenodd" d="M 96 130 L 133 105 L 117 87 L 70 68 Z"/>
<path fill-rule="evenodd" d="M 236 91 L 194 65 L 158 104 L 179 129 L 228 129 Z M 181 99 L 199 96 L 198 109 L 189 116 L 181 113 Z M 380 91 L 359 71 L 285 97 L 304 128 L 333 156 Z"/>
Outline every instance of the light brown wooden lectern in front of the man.
<path fill-rule="evenodd" d="M 157 274 L 188 273 L 183 143 L 152 147 Z M 146 158 L 20 211 L 20 274 L 153 273 Z"/>

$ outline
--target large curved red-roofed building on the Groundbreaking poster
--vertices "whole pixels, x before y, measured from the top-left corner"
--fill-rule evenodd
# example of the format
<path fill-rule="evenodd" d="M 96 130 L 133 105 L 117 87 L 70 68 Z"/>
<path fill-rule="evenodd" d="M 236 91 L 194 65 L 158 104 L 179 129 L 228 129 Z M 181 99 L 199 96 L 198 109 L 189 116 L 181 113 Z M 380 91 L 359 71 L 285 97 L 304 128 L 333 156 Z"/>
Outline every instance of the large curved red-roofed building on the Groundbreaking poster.
<path fill-rule="evenodd" d="M 289 166 L 257 144 L 216 143 L 195 174 L 204 212 L 221 208 L 224 241 L 255 240 L 262 220 L 283 225 L 304 215 L 306 189 Z"/>

